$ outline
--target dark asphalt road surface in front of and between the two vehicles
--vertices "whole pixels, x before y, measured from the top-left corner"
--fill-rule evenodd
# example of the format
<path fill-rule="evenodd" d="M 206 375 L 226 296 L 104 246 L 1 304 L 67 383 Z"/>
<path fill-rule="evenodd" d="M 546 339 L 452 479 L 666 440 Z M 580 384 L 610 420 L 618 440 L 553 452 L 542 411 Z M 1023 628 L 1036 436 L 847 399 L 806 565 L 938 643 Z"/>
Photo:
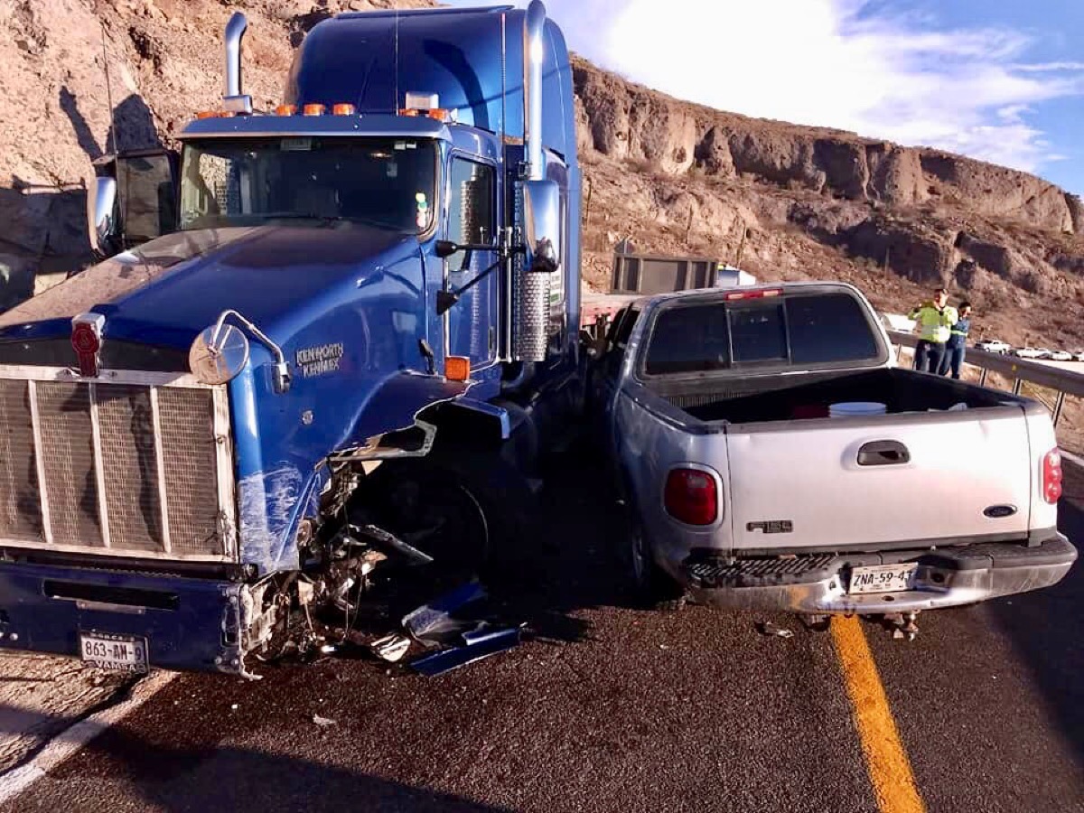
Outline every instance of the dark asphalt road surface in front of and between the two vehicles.
<path fill-rule="evenodd" d="M 2 810 L 878 810 L 833 636 L 628 608 L 612 511 L 571 470 L 516 601 L 537 638 L 433 679 L 345 659 L 183 676 Z M 1061 518 L 1084 542 L 1081 503 Z M 927 810 L 1084 810 L 1082 618 L 1079 566 L 926 614 L 913 642 L 863 622 Z"/>

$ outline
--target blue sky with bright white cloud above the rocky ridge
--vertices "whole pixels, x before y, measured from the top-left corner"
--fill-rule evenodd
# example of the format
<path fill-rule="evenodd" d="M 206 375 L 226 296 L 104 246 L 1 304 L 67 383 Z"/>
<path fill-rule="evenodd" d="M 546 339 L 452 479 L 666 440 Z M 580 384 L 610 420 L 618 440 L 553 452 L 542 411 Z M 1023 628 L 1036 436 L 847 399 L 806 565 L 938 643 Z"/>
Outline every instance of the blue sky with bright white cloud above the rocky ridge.
<path fill-rule="evenodd" d="M 547 0 L 546 9 L 573 51 L 671 95 L 942 147 L 1084 193 L 1084 0 Z"/>

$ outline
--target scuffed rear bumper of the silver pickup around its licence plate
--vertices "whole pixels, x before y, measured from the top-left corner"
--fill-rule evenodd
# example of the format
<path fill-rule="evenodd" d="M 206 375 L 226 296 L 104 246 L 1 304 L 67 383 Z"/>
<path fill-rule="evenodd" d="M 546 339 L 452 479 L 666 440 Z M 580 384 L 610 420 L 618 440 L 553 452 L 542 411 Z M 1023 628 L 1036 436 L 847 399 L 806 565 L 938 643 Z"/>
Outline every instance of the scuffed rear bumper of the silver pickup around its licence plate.
<path fill-rule="evenodd" d="M 1040 544 L 990 542 L 938 551 L 798 554 L 725 562 L 699 553 L 682 563 L 694 601 L 731 609 L 809 614 L 911 612 L 973 604 L 1058 583 L 1076 549 L 1054 532 Z M 918 563 L 914 586 L 895 593 L 848 593 L 851 569 Z"/>

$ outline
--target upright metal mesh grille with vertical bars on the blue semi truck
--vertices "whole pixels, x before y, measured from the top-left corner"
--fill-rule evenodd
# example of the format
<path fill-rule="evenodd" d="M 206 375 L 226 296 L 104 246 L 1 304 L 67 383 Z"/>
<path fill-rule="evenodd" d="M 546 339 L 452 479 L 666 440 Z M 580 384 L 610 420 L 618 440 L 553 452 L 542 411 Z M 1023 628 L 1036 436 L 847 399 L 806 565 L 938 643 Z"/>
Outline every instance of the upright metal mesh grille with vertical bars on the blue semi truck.
<path fill-rule="evenodd" d="M 0 543 L 232 559 L 225 390 L 59 377 L 0 378 Z"/>

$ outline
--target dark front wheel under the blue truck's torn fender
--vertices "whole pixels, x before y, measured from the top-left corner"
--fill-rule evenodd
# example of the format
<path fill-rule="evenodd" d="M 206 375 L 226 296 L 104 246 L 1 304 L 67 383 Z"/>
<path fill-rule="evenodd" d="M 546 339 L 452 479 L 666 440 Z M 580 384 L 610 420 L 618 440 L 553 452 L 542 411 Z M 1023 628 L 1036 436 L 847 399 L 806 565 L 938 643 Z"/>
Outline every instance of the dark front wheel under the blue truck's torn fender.
<path fill-rule="evenodd" d="M 492 570 L 533 550 L 534 495 L 495 450 L 444 446 L 426 457 L 386 461 L 361 502 L 441 570 Z"/>

